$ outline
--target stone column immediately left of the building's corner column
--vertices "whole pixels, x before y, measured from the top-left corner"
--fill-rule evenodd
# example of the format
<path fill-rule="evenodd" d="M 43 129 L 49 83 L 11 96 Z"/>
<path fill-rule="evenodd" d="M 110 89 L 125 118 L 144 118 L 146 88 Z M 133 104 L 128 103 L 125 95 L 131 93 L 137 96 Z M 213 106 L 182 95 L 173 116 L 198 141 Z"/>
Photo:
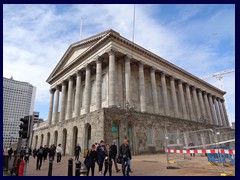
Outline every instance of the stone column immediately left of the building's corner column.
<path fill-rule="evenodd" d="M 96 109 L 102 107 L 102 58 L 96 59 Z"/>

